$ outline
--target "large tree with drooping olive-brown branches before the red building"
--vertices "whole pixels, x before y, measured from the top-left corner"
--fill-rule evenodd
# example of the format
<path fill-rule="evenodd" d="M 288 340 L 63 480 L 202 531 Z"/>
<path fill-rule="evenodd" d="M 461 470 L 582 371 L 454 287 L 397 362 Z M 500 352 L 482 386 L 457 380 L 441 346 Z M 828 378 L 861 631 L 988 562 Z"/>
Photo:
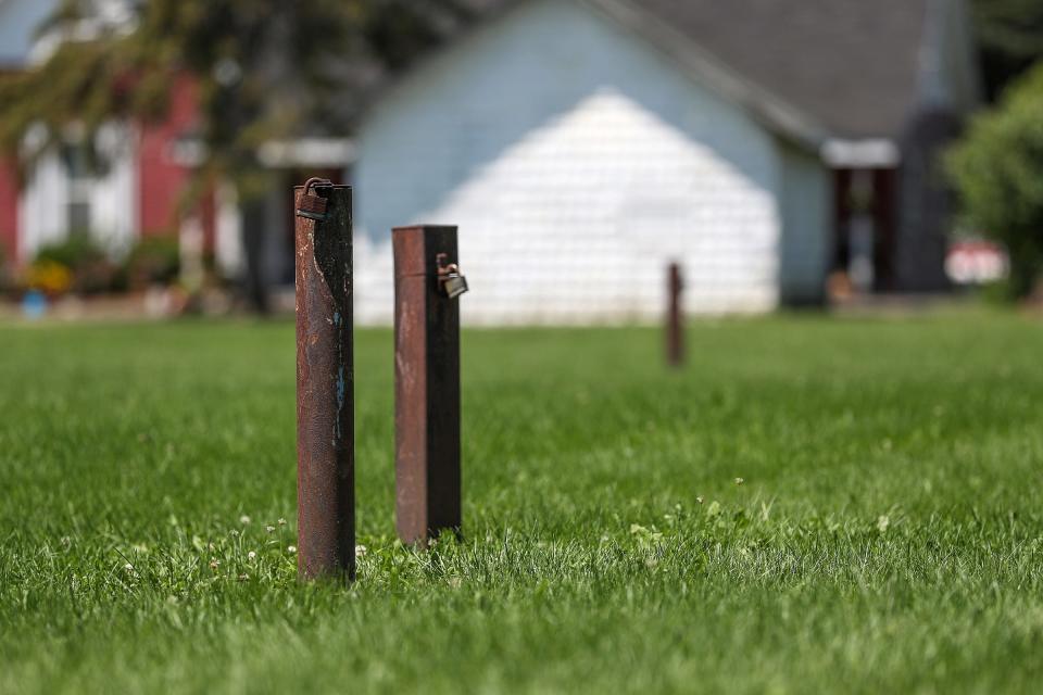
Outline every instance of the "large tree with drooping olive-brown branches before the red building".
<path fill-rule="evenodd" d="M 129 21 L 102 24 L 90 40 L 66 40 L 37 68 L 0 79 L 0 148 L 21 151 L 28 164 L 70 125 L 89 143 L 113 117 L 161 118 L 172 77 L 187 74 L 199 91 L 193 136 L 203 161 L 186 204 L 221 177 L 237 184 L 249 208 L 271 186 L 257 162 L 262 143 L 350 132 L 369 92 L 452 36 L 474 13 L 474 1 L 128 3 Z M 70 29 L 85 20 L 99 26 L 93 2 L 66 0 L 46 28 L 75 36 Z M 45 138 L 27 152 L 30 129 Z M 244 241 L 248 258 L 256 256 L 250 253 L 255 235 L 248 230 Z M 263 309 L 256 270 L 248 268 L 248 285 Z"/>

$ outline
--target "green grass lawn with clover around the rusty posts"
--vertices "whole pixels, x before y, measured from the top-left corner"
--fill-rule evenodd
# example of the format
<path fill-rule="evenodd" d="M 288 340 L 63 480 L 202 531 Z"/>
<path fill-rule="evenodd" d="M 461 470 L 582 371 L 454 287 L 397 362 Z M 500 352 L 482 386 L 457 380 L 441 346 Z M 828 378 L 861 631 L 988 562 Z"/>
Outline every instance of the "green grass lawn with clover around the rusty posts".
<path fill-rule="evenodd" d="M 1043 325 L 688 339 L 465 332 L 466 536 L 417 553 L 361 331 L 343 589 L 288 551 L 291 324 L 0 327 L 0 691 L 1038 692 Z"/>

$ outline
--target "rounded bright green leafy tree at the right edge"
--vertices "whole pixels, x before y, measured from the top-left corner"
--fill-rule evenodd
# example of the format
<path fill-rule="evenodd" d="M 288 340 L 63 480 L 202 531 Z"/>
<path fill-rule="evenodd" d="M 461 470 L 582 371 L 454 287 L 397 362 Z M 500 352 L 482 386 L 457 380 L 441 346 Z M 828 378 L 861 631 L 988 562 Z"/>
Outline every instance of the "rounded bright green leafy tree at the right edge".
<path fill-rule="evenodd" d="M 977 116 L 947 169 L 967 220 L 1010 254 L 1010 293 L 1029 295 L 1043 271 L 1043 64 Z"/>

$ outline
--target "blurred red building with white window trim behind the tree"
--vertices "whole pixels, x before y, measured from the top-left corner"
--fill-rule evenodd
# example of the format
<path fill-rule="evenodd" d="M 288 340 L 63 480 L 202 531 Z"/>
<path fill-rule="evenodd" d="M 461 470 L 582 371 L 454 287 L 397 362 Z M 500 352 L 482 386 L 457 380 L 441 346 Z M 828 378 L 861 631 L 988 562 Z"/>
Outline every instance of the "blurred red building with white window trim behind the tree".
<path fill-rule="evenodd" d="M 61 35 L 38 36 L 40 23 L 56 9 L 56 0 L 8 0 L 0 3 L 0 71 L 33 70 L 68 36 L 90 38 L 111 29 L 104 22 L 129 22 L 112 0 L 104 17 Z M 108 18 L 106 18 L 108 17 Z M 122 17 L 122 18 L 121 18 Z M 138 239 L 177 237 L 183 266 L 213 257 L 226 276 L 246 267 L 243 228 L 257 254 L 251 266 L 264 285 L 292 282 L 292 217 L 289 187 L 306 174 L 336 178 L 348 165 L 350 146 L 343 139 L 317 138 L 271 142 L 259 160 L 274 177 L 271 194 L 241 207 L 235 187 L 216 182 L 189 201 L 192 167 L 202 160 L 197 90 L 187 76 L 171 80 L 169 109 L 160 123 L 113 119 L 86 141 L 75 128 L 62 134 L 59 147 L 48 146 L 34 164 L 0 161 L 0 251 L 2 263 L 24 266 L 39 250 L 73 235 L 85 235 L 118 257 Z M 51 138 L 30 130 L 23 150 L 41 148 Z M 88 150 L 93 156 L 87 156 Z"/>

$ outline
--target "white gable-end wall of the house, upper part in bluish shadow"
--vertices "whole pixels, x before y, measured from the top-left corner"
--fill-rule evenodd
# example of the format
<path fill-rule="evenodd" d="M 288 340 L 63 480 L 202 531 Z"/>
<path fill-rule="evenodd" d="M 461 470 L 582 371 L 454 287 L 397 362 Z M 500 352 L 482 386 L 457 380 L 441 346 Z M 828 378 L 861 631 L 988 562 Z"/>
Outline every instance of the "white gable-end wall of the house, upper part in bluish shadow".
<path fill-rule="evenodd" d="M 671 260 L 689 311 L 770 311 L 782 170 L 772 136 L 642 39 L 530 3 L 363 128 L 356 318 L 390 320 L 389 229 L 412 223 L 460 225 L 466 323 L 654 319 Z"/>

